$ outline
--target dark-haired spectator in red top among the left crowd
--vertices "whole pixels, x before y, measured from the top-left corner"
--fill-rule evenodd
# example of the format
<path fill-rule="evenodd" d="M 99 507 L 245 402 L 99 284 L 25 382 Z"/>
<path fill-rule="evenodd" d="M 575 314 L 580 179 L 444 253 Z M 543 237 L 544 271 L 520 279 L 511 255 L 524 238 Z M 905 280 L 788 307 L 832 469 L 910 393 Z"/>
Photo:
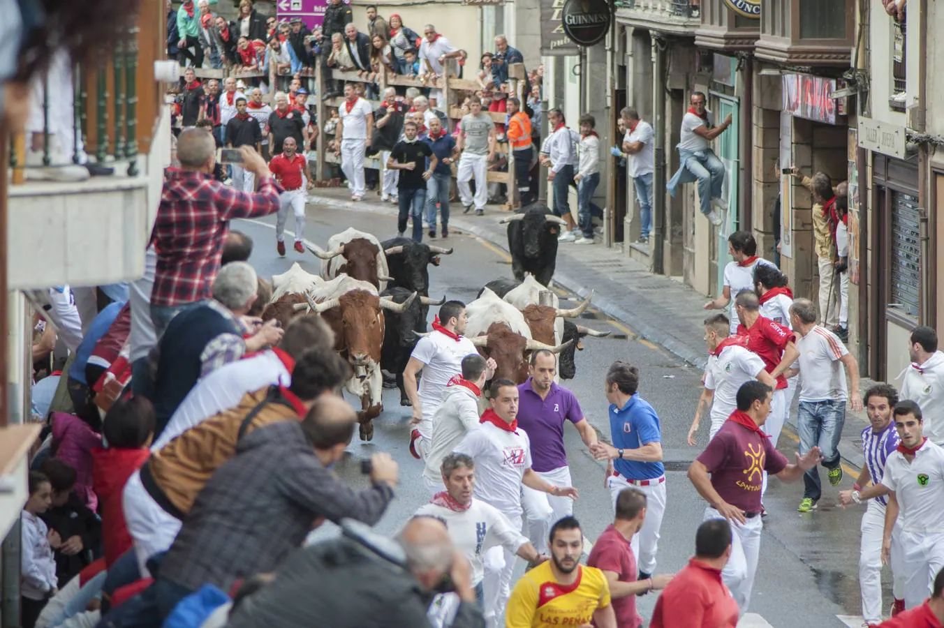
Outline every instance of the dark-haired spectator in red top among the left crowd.
<path fill-rule="evenodd" d="M 104 445 L 92 452 L 93 486 L 101 503 L 102 543 L 110 567 L 127 550 L 131 537 L 125 527 L 122 491 L 127 478 L 143 465 L 154 438 L 154 406 L 145 397 L 119 399 L 105 415 Z"/>

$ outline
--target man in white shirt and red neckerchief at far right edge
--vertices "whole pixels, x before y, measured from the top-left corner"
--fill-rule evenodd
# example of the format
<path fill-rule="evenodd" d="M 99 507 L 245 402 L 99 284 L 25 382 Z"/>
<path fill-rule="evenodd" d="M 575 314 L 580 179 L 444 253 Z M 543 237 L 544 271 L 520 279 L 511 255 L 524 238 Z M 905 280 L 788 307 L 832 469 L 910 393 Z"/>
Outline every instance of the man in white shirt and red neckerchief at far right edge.
<path fill-rule="evenodd" d="M 944 353 L 937 351 L 937 332 L 915 327 L 908 346 L 911 365 L 899 375 L 902 399 L 918 402 L 924 415 L 924 436 L 944 446 Z"/>

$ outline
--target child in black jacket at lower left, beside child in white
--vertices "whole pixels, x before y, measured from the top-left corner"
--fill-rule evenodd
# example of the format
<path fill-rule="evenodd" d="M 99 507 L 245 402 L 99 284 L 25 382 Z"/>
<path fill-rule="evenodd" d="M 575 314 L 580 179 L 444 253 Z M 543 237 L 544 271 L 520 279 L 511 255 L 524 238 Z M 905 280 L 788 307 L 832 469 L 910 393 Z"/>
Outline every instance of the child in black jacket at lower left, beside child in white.
<path fill-rule="evenodd" d="M 56 575 L 59 582 L 67 583 L 92 563 L 93 555 L 101 554 L 102 524 L 76 495 L 76 470 L 68 463 L 51 458 L 42 463 L 40 471 L 53 489 L 52 506 L 43 513 L 42 521 L 61 539 L 52 543 Z"/>

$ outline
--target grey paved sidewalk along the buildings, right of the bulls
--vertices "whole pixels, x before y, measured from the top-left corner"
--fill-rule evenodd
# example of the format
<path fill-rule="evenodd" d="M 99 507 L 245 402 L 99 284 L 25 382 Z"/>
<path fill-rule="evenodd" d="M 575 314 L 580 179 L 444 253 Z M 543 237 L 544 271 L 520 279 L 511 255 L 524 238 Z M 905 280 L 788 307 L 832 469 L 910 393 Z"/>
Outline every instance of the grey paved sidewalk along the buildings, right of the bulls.
<path fill-rule="evenodd" d="M 309 202 L 396 215 L 395 206 L 382 203 L 372 192 L 358 203 L 348 200 L 349 193 L 346 188 L 315 189 L 309 195 Z M 474 216 L 463 214 L 459 203 L 453 207 L 459 211 L 452 211 L 450 227 L 478 236 L 503 251 L 508 250 L 507 226 L 498 224 L 498 218 L 508 215 L 507 212 L 489 206 L 484 216 Z M 708 355 L 702 322 L 708 297 L 681 280 L 651 274 L 617 248 L 562 243 L 557 250 L 554 283 L 582 297 L 589 294 L 592 287 L 595 290 L 593 305 L 604 314 L 623 322 L 640 338 L 663 347 L 698 369 L 704 368 Z M 862 380 L 863 390 L 870 385 L 869 380 Z M 790 414 L 787 424 L 796 432 L 796 412 Z M 859 435 L 867 425 L 865 412 L 857 415 L 847 410 L 839 452 L 856 471 L 864 462 Z"/>

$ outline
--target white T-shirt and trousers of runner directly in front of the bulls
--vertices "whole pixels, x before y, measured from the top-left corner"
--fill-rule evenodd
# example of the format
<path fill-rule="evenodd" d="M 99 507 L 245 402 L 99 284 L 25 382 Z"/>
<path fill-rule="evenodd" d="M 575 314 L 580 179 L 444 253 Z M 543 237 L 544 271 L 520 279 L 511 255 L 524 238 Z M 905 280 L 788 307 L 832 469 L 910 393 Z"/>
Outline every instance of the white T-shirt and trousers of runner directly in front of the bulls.
<path fill-rule="evenodd" d="M 419 383 L 423 420 L 416 429 L 424 437 L 432 437 L 432 415 L 443 400 L 443 389 L 454 375 L 462 373 L 463 358 L 475 353 L 478 352 L 470 339 L 461 337 L 457 342 L 438 331 L 416 343 L 410 356 L 423 363 L 423 378 Z"/>

